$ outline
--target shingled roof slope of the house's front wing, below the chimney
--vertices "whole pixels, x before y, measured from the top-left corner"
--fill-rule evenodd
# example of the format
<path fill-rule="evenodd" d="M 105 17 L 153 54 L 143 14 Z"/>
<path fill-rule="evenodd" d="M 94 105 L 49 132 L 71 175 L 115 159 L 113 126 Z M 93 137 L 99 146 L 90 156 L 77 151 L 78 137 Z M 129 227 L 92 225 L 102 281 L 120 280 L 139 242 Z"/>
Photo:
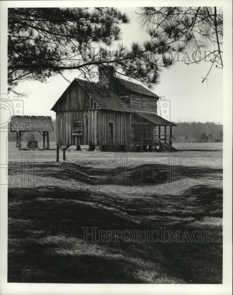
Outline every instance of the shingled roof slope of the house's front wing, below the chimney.
<path fill-rule="evenodd" d="M 101 109 L 112 111 L 131 112 L 124 108 L 124 102 L 113 91 L 107 90 L 101 83 L 94 83 L 75 78 L 75 80 L 87 91 Z"/>

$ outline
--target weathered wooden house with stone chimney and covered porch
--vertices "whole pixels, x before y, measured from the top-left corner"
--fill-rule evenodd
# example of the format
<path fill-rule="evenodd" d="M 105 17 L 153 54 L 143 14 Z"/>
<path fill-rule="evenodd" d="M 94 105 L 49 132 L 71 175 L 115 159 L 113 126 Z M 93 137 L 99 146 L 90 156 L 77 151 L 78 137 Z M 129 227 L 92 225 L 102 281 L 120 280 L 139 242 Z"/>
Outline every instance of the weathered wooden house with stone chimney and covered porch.
<path fill-rule="evenodd" d="M 157 115 L 158 99 L 145 87 L 115 77 L 110 66 L 99 68 L 98 83 L 75 78 L 51 109 L 56 112 L 57 145 L 152 147 L 163 140 L 161 126 L 171 145 L 176 125 Z"/>

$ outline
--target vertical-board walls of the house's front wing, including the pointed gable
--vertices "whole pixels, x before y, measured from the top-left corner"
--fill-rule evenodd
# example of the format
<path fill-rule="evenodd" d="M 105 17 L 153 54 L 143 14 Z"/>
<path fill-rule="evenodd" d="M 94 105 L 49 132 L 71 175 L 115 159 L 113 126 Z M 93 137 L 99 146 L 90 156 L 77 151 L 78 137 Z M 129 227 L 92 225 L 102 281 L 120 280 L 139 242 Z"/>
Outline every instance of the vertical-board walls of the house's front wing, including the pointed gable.
<path fill-rule="evenodd" d="M 74 122 L 82 122 L 82 135 L 73 135 Z M 109 140 L 109 123 L 117 144 L 130 140 L 130 114 L 100 109 L 76 82 L 61 96 L 56 105 L 58 145 L 105 145 Z"/>

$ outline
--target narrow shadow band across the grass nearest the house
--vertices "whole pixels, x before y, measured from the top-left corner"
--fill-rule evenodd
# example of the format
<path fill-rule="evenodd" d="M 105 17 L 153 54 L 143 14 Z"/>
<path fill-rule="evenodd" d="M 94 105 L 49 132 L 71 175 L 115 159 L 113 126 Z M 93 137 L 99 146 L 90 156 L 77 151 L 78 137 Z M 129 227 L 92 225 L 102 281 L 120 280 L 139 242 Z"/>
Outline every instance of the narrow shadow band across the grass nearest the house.
<path fill-rule="evenodd" d="M 20 163 L 9 163 L 8 171 L 10 173 L 21 173 Z M 109 184 L 113 185 L 114 181 L 119 183 L 124 181 L 128 185 L 135 183 L 143 184 L 161 184 L 168 181 L 168 165 L 146 164 L 146 165 L 128 165 L 128 170 L 118 176 L 119 167 L 111 168 L 84 167 L 76 163 L 35 163 L 35 172 L 37 176 L 53 177 L 58 180 L 74 180 L 85 184 Z M 221 168 L 209 168 L 198 166 L 182 165 L 182 177 L 185 178 L 206 178 L 220 179 L 223 170 Z M 177 175 L 175 174 L 174 177 Z M 173 176 L 171 181 L 173 180 Z"/>

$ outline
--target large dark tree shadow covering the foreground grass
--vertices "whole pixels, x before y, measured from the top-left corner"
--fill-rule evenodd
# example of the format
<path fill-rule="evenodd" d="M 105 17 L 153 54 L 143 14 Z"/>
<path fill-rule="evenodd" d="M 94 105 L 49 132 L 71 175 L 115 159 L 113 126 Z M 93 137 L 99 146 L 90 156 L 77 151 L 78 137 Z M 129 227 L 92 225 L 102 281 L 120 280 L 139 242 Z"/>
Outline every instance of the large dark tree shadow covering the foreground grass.
<path fill-rule="evenodd" d="M 221 241 L 83 241 L 82 227 L 88 232 L 91 227 L 167 227 L 173 233 L 221 229 L 221 189 L 195 186 L 191 191 L 146 197 L 59 187 L 48 187 L 43 196 L 9 192 L 8 282 L 221 283 Z"/>

